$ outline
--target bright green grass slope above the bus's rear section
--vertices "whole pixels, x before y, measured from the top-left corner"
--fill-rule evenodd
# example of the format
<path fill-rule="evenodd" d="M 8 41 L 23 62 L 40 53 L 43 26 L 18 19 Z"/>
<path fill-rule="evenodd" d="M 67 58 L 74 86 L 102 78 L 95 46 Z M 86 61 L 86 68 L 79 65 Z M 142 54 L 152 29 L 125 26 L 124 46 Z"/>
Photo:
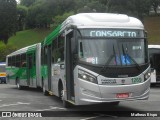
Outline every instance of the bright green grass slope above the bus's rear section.
<path fill-rule="evenodd" d="M 30 29 L 20 31 L 9 39 L 8 44 L 20 49 L 28 45 L 42 42 L 51 31 L 52 30 L 49 29 Z"/>

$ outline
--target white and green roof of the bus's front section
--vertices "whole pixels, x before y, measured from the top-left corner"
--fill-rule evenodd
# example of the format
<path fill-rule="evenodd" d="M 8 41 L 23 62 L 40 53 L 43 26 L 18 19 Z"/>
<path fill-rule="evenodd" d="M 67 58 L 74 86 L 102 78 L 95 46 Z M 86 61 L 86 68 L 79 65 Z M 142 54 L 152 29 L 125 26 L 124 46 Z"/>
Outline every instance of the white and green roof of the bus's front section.
<path fill-rule="evenodd" d="M 61 31 L 75 26 L 77 28 L 123 28 L 123 29 L 144 29 L 140 20 L 124 14 L 113 13 L 80 13 L 68 17 L 42 42 L 43 45 L 51 44 Z"/>

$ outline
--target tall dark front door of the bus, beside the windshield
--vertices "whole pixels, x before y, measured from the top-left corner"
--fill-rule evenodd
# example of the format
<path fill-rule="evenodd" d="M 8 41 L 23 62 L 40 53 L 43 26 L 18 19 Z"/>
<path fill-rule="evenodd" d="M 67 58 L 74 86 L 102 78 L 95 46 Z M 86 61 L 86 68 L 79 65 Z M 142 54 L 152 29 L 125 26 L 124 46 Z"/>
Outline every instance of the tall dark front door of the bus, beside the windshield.
<path fill-rule="evenodd" d="M 74 66 L 73 66 L 73 53 L 72 53 L 72 41 L 73 31 L 70 31 L 66 35 L 66 56 L 65 56 L 65 70 L 66 70 L 66 89 L 67 99 L 74 101 Z"/>

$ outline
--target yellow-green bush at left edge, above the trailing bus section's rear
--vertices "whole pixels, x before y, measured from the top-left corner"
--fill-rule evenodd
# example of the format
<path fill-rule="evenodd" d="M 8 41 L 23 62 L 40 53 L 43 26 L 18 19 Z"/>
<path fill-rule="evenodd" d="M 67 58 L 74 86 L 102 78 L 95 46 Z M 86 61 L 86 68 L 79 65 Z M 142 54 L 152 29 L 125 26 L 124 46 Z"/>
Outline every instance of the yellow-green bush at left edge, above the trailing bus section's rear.
<path fill-rule="evenodd" d="M 0 62 L 4 62 L 6 56 L 16 49 L 17 48 L 13 45 L 5 45 L 3 42 L 0 42 Z"/>

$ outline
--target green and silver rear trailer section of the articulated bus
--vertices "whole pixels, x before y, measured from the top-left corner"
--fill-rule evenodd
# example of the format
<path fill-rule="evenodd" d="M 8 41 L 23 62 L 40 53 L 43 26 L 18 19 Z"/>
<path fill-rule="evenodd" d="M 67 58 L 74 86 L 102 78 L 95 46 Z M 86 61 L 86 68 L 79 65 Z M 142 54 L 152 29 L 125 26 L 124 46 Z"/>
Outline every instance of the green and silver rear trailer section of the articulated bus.
<path fill-rule="evenodd" d="M 17 50 L 6 57 L 7 83 L 23 87 L 41 87 L 41 43 Z"/>

